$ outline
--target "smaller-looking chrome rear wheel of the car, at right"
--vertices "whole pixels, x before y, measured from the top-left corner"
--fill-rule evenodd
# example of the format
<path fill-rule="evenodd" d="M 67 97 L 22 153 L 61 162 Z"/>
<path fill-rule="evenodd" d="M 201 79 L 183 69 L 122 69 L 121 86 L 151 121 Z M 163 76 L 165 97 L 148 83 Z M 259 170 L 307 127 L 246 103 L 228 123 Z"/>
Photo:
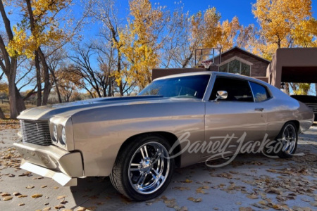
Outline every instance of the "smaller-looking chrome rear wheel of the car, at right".
<path fill-rule="evenodd" d="M 287 124 L 282 133 L 282 151 L 291 155 L 297 142 L 297 132 L 292 124 Z"/>

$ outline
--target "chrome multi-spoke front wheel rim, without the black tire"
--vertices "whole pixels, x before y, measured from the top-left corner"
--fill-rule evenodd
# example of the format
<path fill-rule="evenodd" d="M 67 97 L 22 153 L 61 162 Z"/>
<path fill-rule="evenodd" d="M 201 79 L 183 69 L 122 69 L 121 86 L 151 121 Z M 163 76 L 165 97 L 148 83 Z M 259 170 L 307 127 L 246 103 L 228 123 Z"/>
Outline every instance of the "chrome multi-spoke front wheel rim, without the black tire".
<path fill-rule="evenodd" d="M 151 194 L 159 190 L 170 172 L 167 149 L 158 142 L 144 143 L 132 155 L 128 178 L 138 193 Z"/>

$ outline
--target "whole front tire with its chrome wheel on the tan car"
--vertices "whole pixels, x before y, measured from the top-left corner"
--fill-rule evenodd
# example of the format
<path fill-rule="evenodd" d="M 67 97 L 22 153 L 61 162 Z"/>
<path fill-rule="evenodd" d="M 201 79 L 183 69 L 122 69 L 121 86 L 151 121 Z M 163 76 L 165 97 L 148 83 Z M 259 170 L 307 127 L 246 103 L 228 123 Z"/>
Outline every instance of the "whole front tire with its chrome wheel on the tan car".
<path fill-rule="evenodd" d="M 110 174 L 113 186 L 132 200 L 150 200 L 167 188 L 175 163 L 163 136 L 137 136 L 121 149 Z"/>

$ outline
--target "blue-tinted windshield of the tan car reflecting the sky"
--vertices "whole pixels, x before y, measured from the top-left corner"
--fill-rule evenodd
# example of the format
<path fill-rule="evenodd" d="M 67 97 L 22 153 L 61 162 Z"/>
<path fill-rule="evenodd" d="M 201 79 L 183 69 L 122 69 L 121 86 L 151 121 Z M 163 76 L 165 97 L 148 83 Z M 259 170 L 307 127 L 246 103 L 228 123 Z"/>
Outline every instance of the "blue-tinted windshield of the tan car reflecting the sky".
<path fill-rule="evenodd" d="M 151 82 L 138 95 L 161 95 L 178 98 L 203 98 L 210 75 L 191 75 Z"/>

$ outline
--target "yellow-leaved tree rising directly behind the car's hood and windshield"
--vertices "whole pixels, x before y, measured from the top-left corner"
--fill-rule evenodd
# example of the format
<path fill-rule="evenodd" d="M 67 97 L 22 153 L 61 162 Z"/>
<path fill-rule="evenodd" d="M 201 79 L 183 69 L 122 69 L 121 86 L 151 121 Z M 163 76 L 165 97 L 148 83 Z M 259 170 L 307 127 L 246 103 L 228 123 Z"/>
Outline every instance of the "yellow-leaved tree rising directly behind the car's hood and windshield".
<path fill-rule="evenodd" d="M 128 25 L 119 30 L 121 53 L 130 63 L 127 67 L 129 83 L 136 82 L 140 89 L 151 82 L 151 69 L 159 65 L 159 34 L 163 27 L 162 8 L 153 8 L 149 0 L 129 1 Z M 120 80 L 117 77 L 117 81 Z"/>

